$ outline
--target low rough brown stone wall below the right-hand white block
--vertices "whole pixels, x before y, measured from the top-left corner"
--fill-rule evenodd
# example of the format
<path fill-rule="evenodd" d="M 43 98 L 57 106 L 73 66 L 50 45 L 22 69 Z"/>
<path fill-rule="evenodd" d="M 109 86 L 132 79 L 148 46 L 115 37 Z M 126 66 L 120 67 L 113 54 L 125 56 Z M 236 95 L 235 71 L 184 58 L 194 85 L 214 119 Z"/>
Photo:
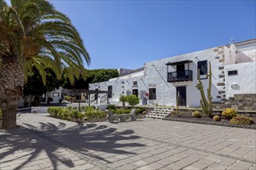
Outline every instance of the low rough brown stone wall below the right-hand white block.
<path fill-rule="evenodd" d="M 234 94 L 234 98 L 223 103 L 214 103 L 213 109 L 234 108 L 235 110 L 256 110 L 256 93 Z"/>

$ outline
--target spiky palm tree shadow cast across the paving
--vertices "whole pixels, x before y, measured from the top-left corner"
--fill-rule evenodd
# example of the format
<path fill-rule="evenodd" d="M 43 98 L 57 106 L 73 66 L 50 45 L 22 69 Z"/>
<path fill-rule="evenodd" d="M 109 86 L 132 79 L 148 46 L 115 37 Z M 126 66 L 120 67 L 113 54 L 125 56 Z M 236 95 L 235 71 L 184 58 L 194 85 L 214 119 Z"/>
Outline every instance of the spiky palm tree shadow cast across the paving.
<path fill-rule="evenodd" d="M 65 128 L 67 124 L 63 122 L 59 122 L 58 125 L 43 122 L 39 124 L 39 127 L 25 124 L 30 129 L 29 133 L 17 134 L 12 130 L 6 130 L 8 135 L 0 137 L 1 163 L 18 162 L 19 165 L 15 169 L 19 169 L 29 162 L 39 160 L 38 158 L 43 154 L 44 160 L 50 160 L 54 169 L 59 164 L 72 168 L 74 167 L 72 159 L 58 154 L 61 146 L 79 152 L 85 157 L 89 156 L 105 162 L 108 161 L 101 157 L 99 152 L 102 155 L 133 155 L 133 152 L 124 151 L 123 148 L 144 146 L 133 142 L 140 137 L 133 135 L 132 130 L 117 131 L 116 128 L 99 124 L 76 124 L 68 128 Z M 67 152 L 67 154 L 71 153 Z M 40 160 L 42 159 L 43 157 Z"/>

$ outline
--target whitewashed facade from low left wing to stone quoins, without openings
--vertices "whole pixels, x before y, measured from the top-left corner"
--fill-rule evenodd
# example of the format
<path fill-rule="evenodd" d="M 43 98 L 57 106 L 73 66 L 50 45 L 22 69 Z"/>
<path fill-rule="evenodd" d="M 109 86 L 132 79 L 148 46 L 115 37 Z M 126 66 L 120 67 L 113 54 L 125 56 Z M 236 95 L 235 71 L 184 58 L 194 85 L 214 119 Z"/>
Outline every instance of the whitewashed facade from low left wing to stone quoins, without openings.
<path fill-rule="evenodd" d="M 195 58 L 195 56 L 197 58 Z M 168 105 L 175 106 L 176 104 L 176 87 L 185 86 L 187 105 L 188 106 L 199 106 L 199 100 L 201 98 L 199 90 L 196 90 L 195 85 L 198 83 L 197 80 L 197 62 L 201 60 L 208 60 L 212 62 L 213 67 L 213 84 L 212 84 L 212 94 L 213 101 L 220 101 L 216 98 L 220 87 L 216 87 L 218 80 L 218 70 L 219 66 L 223 66 L 223 63 L 216 62 L 215 53 L 213 49 L 206 49 L 195 53 L 184 54 L 181 56 L 169 57 L 166 59 L 160 59 L 152 62 L 145 63 L 144 72 L 134 73 L 132 75 L 120 76 L 118 78 L 109 80 L 102 83 L 92 83 L 90 84 L 90 90 L 95 90 L 95 87 L 100 87 L 99 90 L 107 90 L 109 85 L 112 85 L 112 100 L 113 102 L 118 102 L 120 94 L 122 94 L 122 81 L 124 82 L 124 89 L 130 90 L 132 93 L 133 89 L 138 89 L 140 104 L 142 104 L 142 99 L 145 97 L 145 93 L 149 93 L 149 88 L 156 88 L 157 100 L 148 100 L 148 105 Z M 189 63 L 189 70 L 193 71 L 193 81 L 184 81 L 179 83 L 168 83 L 167 82 L 167 66 L 168 62 L 176 62 L 190 59 L 193 63 Z M 175 71 L 175 66 L 169 67 L 169 72 Z M 185 64 L 185 69 L 187 69 L 187 64 Z M 137 81 L 137 87 L 133 87 L 133 81 Z M 202 80 L 205 87 L 208 87 L 208 79 Z M 126 93 L 125 93 L 126 94 Z"/>

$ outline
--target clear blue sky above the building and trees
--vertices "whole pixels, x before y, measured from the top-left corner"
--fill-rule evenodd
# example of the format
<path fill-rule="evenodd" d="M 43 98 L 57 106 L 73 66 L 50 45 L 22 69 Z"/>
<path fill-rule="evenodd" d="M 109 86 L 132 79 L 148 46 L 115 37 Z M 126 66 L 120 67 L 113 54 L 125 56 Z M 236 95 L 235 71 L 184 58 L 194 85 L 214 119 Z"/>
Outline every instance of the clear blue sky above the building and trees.
<path fill-rule="evenodd" d="M 147 61 L 255 38 L 255 1 L 54 0 L 81 33 L 89 69 Z"/>

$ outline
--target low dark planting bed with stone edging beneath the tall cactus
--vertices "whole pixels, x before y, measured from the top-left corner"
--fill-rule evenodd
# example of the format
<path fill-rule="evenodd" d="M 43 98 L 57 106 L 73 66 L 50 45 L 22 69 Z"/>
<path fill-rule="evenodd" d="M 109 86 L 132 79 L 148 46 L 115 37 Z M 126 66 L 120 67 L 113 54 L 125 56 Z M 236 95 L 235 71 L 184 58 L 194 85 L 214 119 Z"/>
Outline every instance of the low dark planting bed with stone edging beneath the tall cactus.
<path fill-rule="evenodd" d="M 227 127 L 235 127 L 235 128 L 249 128 L 256 129 L 256 117 L 251 117 L 254 120 L 254 124 L 230 124 L 230 121 L 227 119 L 221 119 L 220 121 L 213 121 L 211 117 L 192 117 L 191 114 L 182 114 L 180 116 L 177 115 L 169 115 L 168 117 L 164 117 L 163 120 L 166 121 L 183 121 L 188 123 L 196 123 L 196 124 L 213 124 L 219 126 L 227 126 Z"/>

